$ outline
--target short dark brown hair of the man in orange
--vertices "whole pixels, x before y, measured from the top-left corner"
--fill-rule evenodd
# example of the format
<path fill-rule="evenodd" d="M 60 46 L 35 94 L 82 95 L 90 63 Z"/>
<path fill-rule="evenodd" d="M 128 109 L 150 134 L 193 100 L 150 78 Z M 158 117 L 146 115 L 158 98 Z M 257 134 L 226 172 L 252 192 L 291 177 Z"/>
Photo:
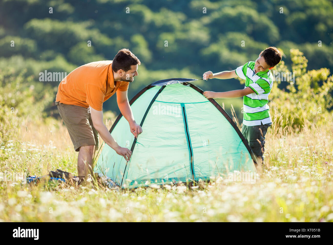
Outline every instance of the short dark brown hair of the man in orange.
<path fill-rule="evenodd" d="M 123 48 L 118 51 L 115 58 L 112 61 L 112 70 L 114 72 L 122 69 L 128 71 L 132 65 L 140 65 L 141 62 L 137 56 L 135 56 L 129 49 Z"/>

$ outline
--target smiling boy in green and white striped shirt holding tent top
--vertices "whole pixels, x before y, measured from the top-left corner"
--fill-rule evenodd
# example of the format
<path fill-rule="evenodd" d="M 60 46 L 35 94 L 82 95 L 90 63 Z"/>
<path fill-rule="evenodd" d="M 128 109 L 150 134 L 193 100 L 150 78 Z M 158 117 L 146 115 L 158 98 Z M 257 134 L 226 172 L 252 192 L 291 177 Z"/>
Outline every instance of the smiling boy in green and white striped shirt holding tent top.
<path fill-rule="evenodd" d="M 268 95 L 273 86 L 273 76 L 270 72 L 281 61 L 281 53 L 275 47 L 266 48 L 259 54 L 256 61 L 249 61 L 233 71 L 212 73 L 207 71 L 203 79 L 230 79 L 240 77 L 245 80 L 244 89 L 227 92 L 205 91 L 203 95 L 209 98 L 243 97 L 243 127 L 242 134 L 249 143 L 252 152 L 257 156 L 257 162 L 263 164 L 265 134 L 272 120 L 269 113 Z"/>

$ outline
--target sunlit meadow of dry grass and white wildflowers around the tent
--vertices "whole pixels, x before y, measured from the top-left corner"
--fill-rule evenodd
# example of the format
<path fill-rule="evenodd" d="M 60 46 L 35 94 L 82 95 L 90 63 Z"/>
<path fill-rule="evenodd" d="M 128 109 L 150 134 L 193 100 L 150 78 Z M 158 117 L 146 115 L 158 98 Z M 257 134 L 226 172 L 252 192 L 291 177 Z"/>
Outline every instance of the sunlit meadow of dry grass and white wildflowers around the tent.
<path fill-rule="evenodd" d="M 275 121 L 266 135 L 267 166 L 255 184 L 219 177 L 196 189 L 119 191 L 3 181 L 0 221 L 333 221 L 332 121 L 324 127 L 307 122 L 297 133 Z M 77 152 L 60 121 L 21 125 L 0 146 L 0 172 L 77 174 Z"/>

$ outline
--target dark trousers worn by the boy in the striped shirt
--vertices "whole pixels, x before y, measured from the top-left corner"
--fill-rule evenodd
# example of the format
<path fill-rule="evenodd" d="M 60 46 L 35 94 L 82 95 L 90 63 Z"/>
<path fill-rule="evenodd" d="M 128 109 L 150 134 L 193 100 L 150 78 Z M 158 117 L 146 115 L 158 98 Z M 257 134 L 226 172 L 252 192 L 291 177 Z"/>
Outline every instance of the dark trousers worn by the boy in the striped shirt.
<path fill-rule="evenodd" d="M 252 152 L 257 157 L 261 157 L 263 159 L 264 154 L 264 146 L 265 146 L 265 135 L 267 133 L 267 129 L 272 125 L 272 123 L 262 124 L 258 126 L 246 126 L 242 127 L 242 134 L 245 139 L 249 143 Z M 260 132 L 261 129 L 261 132 Z M 260 143 L 258 142 L 258 140 Z"/>

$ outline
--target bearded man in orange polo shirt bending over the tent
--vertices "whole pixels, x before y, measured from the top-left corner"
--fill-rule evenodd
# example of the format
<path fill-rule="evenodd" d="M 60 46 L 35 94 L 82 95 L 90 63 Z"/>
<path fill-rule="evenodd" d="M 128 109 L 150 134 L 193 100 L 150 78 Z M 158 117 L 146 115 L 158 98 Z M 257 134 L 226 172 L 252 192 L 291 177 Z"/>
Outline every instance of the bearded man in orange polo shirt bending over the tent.
<path fill-rule="evenodd" d="M 78 155 L 78 175 L 93 173 L 93 157 L 98 149 L 98 134 L 117 154 L 129 161 L 132 152 L 120 147 L 103 123 L 103 102 L 117 93 L 120 112 L 130 124 L 135 137 L 142 133 L 127 98 L 140 60 L 128 49 L 122 49 L 113 60 L 96 61 L 80 66 L 59 84 L 56 105 Z"/>

